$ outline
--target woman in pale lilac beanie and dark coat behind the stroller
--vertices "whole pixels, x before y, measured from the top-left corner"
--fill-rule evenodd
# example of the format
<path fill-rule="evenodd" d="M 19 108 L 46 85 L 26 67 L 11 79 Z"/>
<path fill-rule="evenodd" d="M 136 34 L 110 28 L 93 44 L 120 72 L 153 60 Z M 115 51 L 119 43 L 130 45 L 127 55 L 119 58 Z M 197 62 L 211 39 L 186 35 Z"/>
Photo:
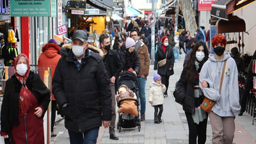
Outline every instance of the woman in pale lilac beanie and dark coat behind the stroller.
<path fill-rule="evenodd" d="M 134 40 L 130 37 L 127 37 L 125 42 L 125 49 L 118 51 L 118 53 L 123 64 L 123 71 L 131 70 L 131 72 L 137 75 L 140 72 L 140 58 L 135 51 L 134 45 Z M 124 47 L 124 45 L 122 45 L 122 47 Z"/>

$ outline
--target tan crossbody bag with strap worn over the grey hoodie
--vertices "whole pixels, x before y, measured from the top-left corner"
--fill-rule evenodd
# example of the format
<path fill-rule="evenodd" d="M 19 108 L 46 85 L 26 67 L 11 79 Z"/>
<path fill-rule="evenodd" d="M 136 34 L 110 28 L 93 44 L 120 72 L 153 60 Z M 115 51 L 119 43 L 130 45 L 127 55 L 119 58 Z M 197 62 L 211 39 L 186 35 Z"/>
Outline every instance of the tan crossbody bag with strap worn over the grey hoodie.
<path fill-rule="evenodd" d="M 223 70 L 222 70 L 222 73 L 221 73 L 219 93 L 221 92 L 221 87 L 222 87 L 222 82 L 223 82 L 223 76 L 224 76 L 224 71 L 225 71 L 226 63 L 227 63 L 227 60 L 224 61 Z M 203 100 L 203 102 L 201 104 L 201 108 L 205 112 L 210 113 L 212 111 L 212 108 L 213 108 L 214 104 L 215 104 L 214 100 L 211 100 L 211 99 L 208 99 L 207 97 L 204 97 L 204 100 Z"/>

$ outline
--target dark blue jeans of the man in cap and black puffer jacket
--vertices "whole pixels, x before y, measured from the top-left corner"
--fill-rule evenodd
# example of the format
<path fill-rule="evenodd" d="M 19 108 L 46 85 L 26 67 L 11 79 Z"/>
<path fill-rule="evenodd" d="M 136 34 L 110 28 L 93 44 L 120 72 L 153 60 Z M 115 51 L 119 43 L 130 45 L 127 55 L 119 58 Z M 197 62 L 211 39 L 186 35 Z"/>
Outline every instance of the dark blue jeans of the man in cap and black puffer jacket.
<path fill-rule="evenodd" d="M 68 130 L 70 144 L 95 144 L 97 143 L 98 133 L 99 127 L 82 133 Z"/>

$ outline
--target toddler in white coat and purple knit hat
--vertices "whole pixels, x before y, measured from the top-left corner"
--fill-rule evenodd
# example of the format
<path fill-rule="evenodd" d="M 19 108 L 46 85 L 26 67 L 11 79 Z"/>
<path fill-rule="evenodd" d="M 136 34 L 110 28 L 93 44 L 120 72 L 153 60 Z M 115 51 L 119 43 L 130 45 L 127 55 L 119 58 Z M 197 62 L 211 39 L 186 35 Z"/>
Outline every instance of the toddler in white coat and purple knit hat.
<path fill-rule="evenodd" d="M 154 82 L 150 83 L 150 90 L 148 96 L 148 102 L 154 106 L 154 122 L 155 124 L 159 124 L 162 122 L 161 116 L 163 113 L 163 104 L 164 97 L 163 93 L 165 92 L 166 87 L 161 83 L 161 76 L 157 73 L 154 74 Z M 159 113 L 158 113 L 159 109 Z"/>

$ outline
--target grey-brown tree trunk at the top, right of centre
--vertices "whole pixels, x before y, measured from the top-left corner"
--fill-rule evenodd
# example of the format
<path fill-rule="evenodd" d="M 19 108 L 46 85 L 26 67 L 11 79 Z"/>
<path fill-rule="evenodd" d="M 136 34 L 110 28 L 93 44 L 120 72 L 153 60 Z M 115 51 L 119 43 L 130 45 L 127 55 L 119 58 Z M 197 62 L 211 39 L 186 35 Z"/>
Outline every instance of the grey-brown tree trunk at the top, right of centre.
<path fill-rule="evenodd" d="M 190 31 L 190 35 L 193 36 L 198 26 L 196 26 L 191 0 L 179 0 L 179 6 L 184 16 L 186 31 Z"/>

